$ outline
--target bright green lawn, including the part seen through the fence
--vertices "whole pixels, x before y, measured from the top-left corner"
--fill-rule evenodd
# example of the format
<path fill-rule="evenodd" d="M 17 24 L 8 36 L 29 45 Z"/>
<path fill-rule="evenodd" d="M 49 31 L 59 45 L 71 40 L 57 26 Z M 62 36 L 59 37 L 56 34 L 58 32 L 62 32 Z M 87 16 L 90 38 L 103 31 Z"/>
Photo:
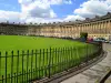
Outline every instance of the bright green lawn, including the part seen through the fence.
<path fill-rule="evenodd" d="M 95 46 L 92 44 L 87 44 L 75 41 L 73 42 L 70 40 L 40 38 L 40 37 L 0 35 L 0 52 L 1 52 L 0 79 L 2 75 L 6 75 L 6 70 L 4 70 L 6 58 L 3 58 L 6 56 L 6 51 L 8 52 L 7 74 L 9 74 L 9 76 L 12 76 L 13 73 L 18 74 L 23 71 L 28 72 L 29 70 L 36 70 L 36 69 L 44 69 L 42 72 L 47 71 L 48 73 L 47 66 L 49 64 L 49 59 L 50 59 L 49 54 L 50 48 L 52 49 L 51 50 L 52 61 L 50 62 L 50 64 L 54 65 L 60 64 L 59 66 L 53 66 L 51 70 L 57 69 L 56 72 L 59 72 L 61 70 L 59 68 L 62 65 L 64 69 L 74 66 L 77 63 L 80 63 L 81 60 L 83 59 L 85 60 L 87 55 L 85 45 L 89 46 L 90 50 L 90 52 L 88 51 L 89 53 L 93 53 L 97 51 Z M 18 55 L 18 50 L 19 50 L 19 55 Z M 54 51 L 57 50 L 58 53 L 56 53 Z M 73 63 L 73 61 L 77 62 Z M 34 76 L 37 76 L 36 74 Z M 44 76 L 44 74 L 40 75 Z"/>

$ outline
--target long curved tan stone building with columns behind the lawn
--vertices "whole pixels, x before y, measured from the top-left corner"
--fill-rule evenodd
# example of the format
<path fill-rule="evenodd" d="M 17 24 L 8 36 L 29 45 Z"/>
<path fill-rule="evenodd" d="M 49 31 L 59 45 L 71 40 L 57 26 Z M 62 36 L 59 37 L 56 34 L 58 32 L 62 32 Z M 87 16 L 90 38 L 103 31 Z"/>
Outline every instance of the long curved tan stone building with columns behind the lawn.
<path fill-rule="evenodd" d="M 44 35 L 58 38 L 79 38 L 80 32 L 88 32 L 89 38 L 111 38 L 111 13 L 95 18 L 85 18 L 85 20 L 77 20 L 74 22 L 53 22 L 40 24 L 21 24 L 18 23 L 0 23 L 0 34 L 17 35 Z"/>

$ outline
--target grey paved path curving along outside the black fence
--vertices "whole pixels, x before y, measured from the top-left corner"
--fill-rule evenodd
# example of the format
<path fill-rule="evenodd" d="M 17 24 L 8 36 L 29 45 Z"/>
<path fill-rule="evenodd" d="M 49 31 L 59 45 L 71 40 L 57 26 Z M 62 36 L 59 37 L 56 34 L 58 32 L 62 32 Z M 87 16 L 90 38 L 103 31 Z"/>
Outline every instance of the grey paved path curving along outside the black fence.
<path fill-rule="evenodd" d="M 101 80 L 103 75 L 111 69 L 111 44 L 103 44 L 104 51 L 108 52 L 107 56 L 92 68 L 77 74 L 70 79 L 62 81 L 61 83 L 95 83 Z M 111 77 L 109 77 L 111 83 Z"/>

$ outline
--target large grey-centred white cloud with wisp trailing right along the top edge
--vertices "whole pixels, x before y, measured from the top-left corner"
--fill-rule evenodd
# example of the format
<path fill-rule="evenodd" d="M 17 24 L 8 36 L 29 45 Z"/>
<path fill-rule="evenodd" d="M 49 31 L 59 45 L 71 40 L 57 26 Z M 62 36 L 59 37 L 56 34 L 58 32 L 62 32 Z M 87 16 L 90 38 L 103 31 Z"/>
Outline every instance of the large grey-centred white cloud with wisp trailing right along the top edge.
<path fill-rule="evenodd" d="M 71 0 L 19 0 L 21 11 L 32 18 L 56 18 L 51 4 L 72 3 Z"/>

